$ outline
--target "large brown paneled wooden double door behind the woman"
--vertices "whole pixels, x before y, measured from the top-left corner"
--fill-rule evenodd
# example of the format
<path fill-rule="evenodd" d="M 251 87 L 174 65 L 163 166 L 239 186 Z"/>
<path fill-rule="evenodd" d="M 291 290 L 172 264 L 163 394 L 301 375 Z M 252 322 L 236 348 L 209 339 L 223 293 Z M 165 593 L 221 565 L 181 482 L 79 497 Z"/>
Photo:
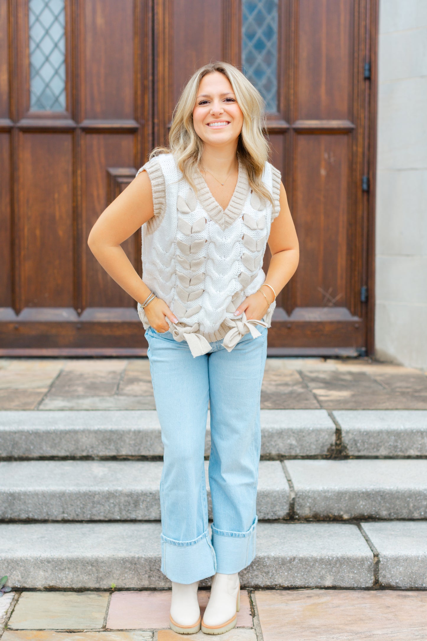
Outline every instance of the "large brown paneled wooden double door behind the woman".
<path fill-rule="evenodd" d="M 29 35 L 35 10 L 61 2 L 64 92 L 49 110 Z M 0 353 L 145 353 L 134 301 L 86 238 L 210 60 L 243 65 L 266 97 L 300 238 L 269 353 L 372 351 L 376 12 L 377 0 L 0 0 Z M 139 234 L 125 249 L 140 270 Z"/>

